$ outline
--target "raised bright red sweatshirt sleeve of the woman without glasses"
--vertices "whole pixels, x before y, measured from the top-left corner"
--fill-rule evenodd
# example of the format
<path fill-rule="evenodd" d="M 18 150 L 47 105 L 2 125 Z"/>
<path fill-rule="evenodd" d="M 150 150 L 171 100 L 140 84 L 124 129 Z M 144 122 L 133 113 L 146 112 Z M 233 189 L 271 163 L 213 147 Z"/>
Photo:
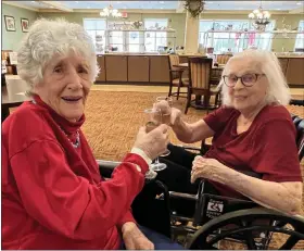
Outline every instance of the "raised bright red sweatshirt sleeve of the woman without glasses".
<path fill-rule="evenodd" d="M 101 237 L 117 225 L 148 170 L 143 159 L 128 154 L 112 179 L 92 185 L 71 170 L 55 141 L 33 142 L 11 158 L 11 166 L 27 213 L 50 230 L 79 240 Z"/>

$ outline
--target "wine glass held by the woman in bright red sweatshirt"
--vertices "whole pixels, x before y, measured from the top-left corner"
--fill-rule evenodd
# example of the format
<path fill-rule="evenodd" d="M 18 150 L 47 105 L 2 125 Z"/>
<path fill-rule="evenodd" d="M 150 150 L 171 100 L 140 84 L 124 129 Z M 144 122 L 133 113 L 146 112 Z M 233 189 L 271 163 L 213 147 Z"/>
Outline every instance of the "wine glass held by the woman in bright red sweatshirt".
<path fill-rule="evenodd" d="M 155 129 L 157 126 L 162 124 L 162 113 L 161 110 L 152 108 L 145 109 L 144 114 L 147 115 L 147 123 L 145 123 L 145 131 L 150 133 L 151 130 Z M 150 168 L 152 171 L 162 171 L 165 170 L 167 165 L 165 163 L 161 163 L 159 156 L 155 159 L 155 162 L 150 164 Z"/>

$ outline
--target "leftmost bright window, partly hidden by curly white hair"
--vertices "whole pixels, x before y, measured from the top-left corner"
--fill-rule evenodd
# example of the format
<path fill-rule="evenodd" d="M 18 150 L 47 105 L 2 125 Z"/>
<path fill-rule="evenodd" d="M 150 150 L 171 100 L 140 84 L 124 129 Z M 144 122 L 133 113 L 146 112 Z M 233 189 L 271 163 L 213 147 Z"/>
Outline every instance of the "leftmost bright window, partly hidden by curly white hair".
<path fill-rule="evenodd" d="M 104 52 L 106 21 L 104 18 L 84 18 L 84 27 L 92 38 L 97 52 Z"/>

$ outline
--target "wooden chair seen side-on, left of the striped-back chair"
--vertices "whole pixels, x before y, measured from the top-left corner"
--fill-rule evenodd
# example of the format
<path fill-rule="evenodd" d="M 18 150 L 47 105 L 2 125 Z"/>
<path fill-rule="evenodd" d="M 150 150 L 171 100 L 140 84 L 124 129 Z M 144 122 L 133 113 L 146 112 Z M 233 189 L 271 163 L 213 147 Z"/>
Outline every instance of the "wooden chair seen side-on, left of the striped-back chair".
<path fill-rule="evenodd" d="M 174 66 L 174 65 L 178 65 L 178 64 L 179 64 L 179 55 L 177 55 L 177 54 L 168 55 L 169 79 L 170 79 L 168 97 L 176 96 L 177 100 L 178 100 L 180 93 L 187 93 L 187 92 L 180 92 L 180 87 L 187 87 L 189 85 L 189 78 L 182 77 L 183 73 L 187 70 Z M 172 92 L 173 87 L 177 87 L 176 92 Z M 180 97 L 187 98 L 187 96 L 180 96 Z"/>

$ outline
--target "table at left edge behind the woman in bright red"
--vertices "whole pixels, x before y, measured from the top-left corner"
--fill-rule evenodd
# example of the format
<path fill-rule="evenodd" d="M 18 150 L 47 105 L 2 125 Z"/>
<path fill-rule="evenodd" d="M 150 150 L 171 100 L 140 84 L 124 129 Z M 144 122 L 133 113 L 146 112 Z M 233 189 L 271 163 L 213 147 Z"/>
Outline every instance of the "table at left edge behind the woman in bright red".
<path fill-rule="evenodd" d="M 31 100 L 26 96 L 27 85 L 20 78 L 5 79 L 1 86 L 1 123 L 10 115 L 10 109 L 21 105 L 24 101 Z"/>

